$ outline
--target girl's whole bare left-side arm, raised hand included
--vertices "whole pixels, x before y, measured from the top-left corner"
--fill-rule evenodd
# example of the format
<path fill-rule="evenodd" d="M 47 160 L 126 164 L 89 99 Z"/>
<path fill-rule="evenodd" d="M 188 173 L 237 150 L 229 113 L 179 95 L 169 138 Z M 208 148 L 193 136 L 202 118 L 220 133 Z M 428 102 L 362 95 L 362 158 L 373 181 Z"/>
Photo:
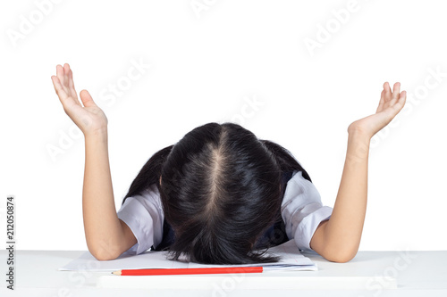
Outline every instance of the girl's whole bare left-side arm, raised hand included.
<path fill-rule="evenodd" d="M 131 229 L 118 219 L 107 148 L 107 119 L 89 92 L 80 92 L 82 106 L 72 81 L 72 70 L 56 66 L 52 76 L 63 110 L 85 137 L 85 172 L 82 190 L 84 230 L 89 252 L 97 260 L 112 260 L 137 243 Z"/>

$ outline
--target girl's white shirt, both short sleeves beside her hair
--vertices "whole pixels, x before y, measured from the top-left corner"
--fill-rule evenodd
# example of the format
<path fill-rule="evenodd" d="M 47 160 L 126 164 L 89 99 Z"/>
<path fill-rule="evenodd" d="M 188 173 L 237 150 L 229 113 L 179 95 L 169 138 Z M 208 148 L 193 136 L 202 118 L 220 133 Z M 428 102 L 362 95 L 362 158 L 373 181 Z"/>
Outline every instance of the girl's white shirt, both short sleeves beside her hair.
<path fill-rule="evenodd" d="M 333 208 L 322 205 L 314 184 L 302 177 L 301 171 L 295 171 L 287 182 L 281 204 L 281 215 L 289 239 L 293 238 L 300 250 L 312 251 L 310 239 L 320 222 L 331 217 L 332 211 Z M 152 245 L 162 242 L 164 212 L 156 185 L 128 197 L 117 215 L 137 238 L 137 243 L 126 253 L 146 252 Z"/>

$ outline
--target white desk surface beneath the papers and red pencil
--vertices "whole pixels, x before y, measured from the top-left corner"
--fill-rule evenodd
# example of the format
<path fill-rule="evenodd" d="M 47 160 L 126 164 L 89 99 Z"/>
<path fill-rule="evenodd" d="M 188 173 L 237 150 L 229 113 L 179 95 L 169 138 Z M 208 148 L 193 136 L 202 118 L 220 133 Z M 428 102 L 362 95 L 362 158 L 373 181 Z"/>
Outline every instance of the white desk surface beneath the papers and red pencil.
<path fill-rule="evenodd" d="M 316 253 L 303 252 L 316 262 L 318 271 L 244 276 L 111 276 L 105 272 L 56 270 L 81 253 L 16 251 L 12 292 L 6 289 L 7 257 L 6 251 L 1 251 L 4 285 L 0 296 L 447 296 L 447 251 L 358 252 L 348 263 L 333 263 Z M 98 287 L 122 286 L 123 277 L 146 277 L 150 289 Z"/>

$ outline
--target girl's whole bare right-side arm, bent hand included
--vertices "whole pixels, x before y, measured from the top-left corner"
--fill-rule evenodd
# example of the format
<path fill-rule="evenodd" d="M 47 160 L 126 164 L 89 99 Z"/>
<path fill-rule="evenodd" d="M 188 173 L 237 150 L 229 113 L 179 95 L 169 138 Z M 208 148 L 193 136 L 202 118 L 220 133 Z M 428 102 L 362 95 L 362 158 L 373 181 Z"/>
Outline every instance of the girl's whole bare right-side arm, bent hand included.
<path fill-rule="evenodd" d="M 384 83 L 375 114 L 356 120 L 348 128 L 348 148 L 342 180 L 330 219 L 323 221 L 310 242 L 311 248 L 326 260 L 347 262 L 358 252 L 367 210 L 367 161 L 371 137 L 401 111 L 406 92 L 400 83 L 393 92 Z"/>

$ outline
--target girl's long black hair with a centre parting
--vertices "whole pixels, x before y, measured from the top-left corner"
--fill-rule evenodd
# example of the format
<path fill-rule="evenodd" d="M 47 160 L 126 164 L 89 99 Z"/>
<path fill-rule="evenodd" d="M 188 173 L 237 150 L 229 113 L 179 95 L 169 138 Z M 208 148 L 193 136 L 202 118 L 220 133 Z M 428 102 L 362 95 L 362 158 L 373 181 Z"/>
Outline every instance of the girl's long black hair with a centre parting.
<path fill-rule="evenodd" d="M 125 199 L 156 184 L 175 240 L 170 259 L 205 264 L 274 262 L 254 251 L 281 216 L 284 172 L 308 173 L 283 146 L 234 123 L 208 123 L 155 153 Z M 161 177 L 161 183 L 160 183 Z"/>

